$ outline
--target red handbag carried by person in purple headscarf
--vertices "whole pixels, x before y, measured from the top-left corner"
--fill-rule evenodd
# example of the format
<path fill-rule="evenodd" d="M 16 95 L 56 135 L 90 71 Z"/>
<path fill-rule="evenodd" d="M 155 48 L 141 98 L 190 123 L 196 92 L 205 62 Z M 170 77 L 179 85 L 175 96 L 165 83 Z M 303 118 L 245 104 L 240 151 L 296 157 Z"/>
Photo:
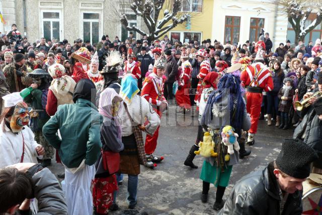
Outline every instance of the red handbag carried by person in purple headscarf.
<path fill-rule="evenodd" d="M 109 171 L 110 175 L 120 170 L 120 153 L 102 150 L 103 168 Z"/>

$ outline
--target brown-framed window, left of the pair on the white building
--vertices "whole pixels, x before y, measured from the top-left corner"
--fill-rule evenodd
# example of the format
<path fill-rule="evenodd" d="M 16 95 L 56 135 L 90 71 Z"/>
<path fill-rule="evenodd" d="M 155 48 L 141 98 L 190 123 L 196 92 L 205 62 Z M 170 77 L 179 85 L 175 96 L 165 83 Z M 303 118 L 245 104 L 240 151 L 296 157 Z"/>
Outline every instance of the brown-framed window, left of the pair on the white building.
<path fill-rule="evenodd" d="M 225 18 L 225 39 L 223 42 L 230 41 L 232 44 L 239 42 L 240 17 Z"/>

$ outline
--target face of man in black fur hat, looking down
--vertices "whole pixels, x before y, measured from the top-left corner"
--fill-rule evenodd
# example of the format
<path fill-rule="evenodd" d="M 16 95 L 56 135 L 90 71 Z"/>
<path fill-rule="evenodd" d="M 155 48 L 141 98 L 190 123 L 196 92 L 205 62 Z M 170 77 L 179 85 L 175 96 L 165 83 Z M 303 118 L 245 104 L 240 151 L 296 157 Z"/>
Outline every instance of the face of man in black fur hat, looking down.
<path fill-rule="evenodd" d="M 276 176 L 277 182 L 281 190 L 287 193 L 294 193 L 297 190 L 302 190 L 302 183 L 306 179 L 293 178 L 291 176 L 283 177 L 280 173 L 280 170 L 274 169 L 274 175 Z"/>

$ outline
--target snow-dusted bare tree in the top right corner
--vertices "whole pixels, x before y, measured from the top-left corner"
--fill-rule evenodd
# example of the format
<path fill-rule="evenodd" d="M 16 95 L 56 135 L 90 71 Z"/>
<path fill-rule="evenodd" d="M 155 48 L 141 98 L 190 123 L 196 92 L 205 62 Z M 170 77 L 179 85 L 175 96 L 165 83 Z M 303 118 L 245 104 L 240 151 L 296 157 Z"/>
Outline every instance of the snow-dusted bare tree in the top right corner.
<path fill-rule="evenodd" d="M 295 32 L 295 43 L 303 41 L 304 37 L 318 26 L 322 21 L 322 6 L 319 1 L 307 0 L 275 0 L 282 11 L 287 15 L 287 20 Z M 316 10 L 316 18 L 311 24 L 305 25 L 305 21 L 312 14 L 312 8 Z"/>

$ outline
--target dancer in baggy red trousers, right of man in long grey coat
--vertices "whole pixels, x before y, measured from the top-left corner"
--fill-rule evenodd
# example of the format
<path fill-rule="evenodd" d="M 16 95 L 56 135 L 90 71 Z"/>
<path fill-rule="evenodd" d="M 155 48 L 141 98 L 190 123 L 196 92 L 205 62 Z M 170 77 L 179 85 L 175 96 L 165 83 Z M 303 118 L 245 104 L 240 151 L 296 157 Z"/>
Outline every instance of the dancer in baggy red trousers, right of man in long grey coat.
<path fill-rule="evenodd" d="M 176 92 L 176 100 L 177 104 L 180 106 L 180 110 L 178 112 L 183 112 L 184 114 L 191 109 L 190 104 L 190 96 L 189 96 L 189 88 L 190 88 L 190 75 L 192 71 L 191 64 L 188 60 L 189 55 L 186 50 L 183 49 L 181 53 L 181 67 L 182 72 L 180 74 L 178 90 Z"/>

